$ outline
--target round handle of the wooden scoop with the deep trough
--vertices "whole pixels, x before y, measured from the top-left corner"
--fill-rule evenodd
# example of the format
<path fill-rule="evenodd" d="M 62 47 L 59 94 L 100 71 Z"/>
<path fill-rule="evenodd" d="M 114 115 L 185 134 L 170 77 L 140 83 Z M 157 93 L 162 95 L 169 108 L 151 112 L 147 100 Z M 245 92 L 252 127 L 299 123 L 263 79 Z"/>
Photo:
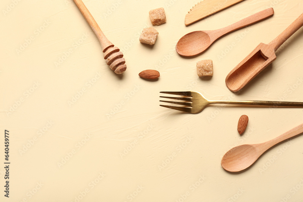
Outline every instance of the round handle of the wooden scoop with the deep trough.
<path fill-rule="evenodd" d="M 289 38 L 291 35 L 295 34 L 298 29 L 303 26 L 303 13 L 293 22 L 288 28 L 286 28 L 279 36 L 272 40 L 269 44 L 274 47 L 274 50 L 278 48 Z"/>

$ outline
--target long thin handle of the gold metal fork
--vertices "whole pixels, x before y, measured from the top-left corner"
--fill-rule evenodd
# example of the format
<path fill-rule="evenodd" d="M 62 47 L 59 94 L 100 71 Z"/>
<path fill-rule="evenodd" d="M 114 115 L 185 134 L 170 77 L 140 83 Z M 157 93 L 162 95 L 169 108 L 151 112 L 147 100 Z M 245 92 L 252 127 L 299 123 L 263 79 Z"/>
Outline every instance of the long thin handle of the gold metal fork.
<path fill-rule="evenodd" d="M 274 107 L 303 107 L 303 102 L 210 100 L 210 104 L 238 104 Z"/>

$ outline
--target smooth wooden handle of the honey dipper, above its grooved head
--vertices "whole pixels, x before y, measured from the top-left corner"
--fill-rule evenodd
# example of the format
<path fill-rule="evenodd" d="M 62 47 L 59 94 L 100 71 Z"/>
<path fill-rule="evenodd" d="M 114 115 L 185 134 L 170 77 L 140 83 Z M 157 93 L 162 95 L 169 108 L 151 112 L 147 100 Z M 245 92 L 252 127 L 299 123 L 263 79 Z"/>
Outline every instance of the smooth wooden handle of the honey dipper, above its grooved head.
<path fill-rule="evenodd" d="M 105 37 L 105 35 L 101 31 L 99 25 L 93 18 L 92 14 L 88 11 L 88 9 L 84 5 L 84 3 L 81 0 L 74 0 L 74 2 L 77 5 L 77 7 L 79 8 L 79 10 L 81 11 L 81 13 L 84 16 L 84 18 L 86 19 L 86 21 L 88 22 L 89 26 L 95 32 L 95 35 L 98 37 L 98 39 L 101 43 L 101 46 L 102 46 L 102 51 L 105 52 L 105 50 L 108 47 L 113 47 L 114 45 Z"/>

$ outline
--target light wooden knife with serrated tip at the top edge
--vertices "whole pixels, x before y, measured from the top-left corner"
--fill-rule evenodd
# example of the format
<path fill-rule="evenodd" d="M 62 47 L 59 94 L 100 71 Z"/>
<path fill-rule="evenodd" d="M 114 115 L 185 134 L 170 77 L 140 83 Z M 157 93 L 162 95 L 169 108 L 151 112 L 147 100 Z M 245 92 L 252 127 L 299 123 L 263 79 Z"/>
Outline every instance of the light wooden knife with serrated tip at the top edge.
<path fill-rule="evenodd" d="M 201 20 L 208 15 L 214 14 L 231 5 L 243 0 L 204 0 L 193 6 L 185 15 L 185 25 Z"/>

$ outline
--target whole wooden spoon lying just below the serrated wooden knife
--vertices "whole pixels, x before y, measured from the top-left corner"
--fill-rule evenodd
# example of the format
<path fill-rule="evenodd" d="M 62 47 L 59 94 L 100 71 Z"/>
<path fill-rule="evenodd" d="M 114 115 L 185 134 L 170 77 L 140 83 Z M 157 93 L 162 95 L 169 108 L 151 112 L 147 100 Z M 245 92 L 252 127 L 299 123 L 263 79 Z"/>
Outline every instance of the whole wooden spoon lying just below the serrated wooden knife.
<path fill-rule="evenodd" d="M 222 35 L 231 31 L 235 31 L 252 23 L 263 20 L 274 14 L 273 8 L 265 9 L 261 12 L 255 13 L 247 18 L 240 20 L 225 28 L 211 30 L 211 31 L 193 31 L 184 35 L 176 45 L 176 51 L 183 56 L 194 56 L 205 51 L 215 40 Z"/>

